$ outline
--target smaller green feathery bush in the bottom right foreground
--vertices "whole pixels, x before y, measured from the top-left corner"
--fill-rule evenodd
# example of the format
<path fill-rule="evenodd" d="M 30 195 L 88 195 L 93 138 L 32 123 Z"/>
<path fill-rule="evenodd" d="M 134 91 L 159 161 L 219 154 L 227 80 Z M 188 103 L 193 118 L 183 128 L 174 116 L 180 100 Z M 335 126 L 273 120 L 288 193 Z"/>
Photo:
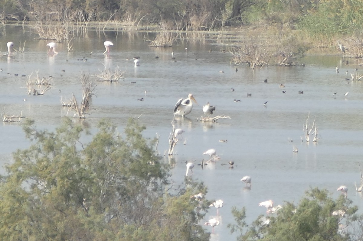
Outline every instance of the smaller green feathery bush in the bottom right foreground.
<path fill-rule="evenodd" d="M 343 195 L 334 200 L 327 190 L 314 188 L 306 192 L 298 205 L 286 202 L 276 214 L 261 215 L 249 227 L 245 223 L 245 208 L 233 207 L 236 224 L 228 227 L 232 233 L 240 233 L 239 241 L 362 240 L 362 217 L 355 215 L 358 208 L 351 203 Z"/>

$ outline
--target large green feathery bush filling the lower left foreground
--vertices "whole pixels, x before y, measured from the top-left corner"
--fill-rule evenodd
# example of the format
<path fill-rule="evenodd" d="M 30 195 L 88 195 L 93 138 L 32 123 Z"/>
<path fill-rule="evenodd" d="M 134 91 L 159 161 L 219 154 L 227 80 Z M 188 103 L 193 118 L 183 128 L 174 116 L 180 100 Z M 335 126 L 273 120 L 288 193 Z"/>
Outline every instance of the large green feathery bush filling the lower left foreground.
<path fill-rule="evenodd" d="M 190 183 L 166 190 L 168 167 L 145 129 L 125 132 L 101 121 L 87 144 L 82 126 L 64 119 L 55 132 L 24 125 L 32 145 L 17 150 L 0 184 L 3 240 L 208 240 L 198 225 L 207 205 L 191 199 L 206 189 Z M 169 188 L 170 189 L 170 188 Z"/>

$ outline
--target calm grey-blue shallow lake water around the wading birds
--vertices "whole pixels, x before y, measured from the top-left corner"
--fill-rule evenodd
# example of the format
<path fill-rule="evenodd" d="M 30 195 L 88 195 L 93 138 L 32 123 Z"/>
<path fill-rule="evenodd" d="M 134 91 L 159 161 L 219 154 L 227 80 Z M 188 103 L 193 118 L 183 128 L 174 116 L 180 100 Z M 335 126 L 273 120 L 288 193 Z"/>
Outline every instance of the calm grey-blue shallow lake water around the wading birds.
<path fill-rule="evenodd" d="M 231 55 L 222 51 L 229 42 L 217 45 L 214 36 L 206 35 L 202 40 L 186 36 L 172 48 L 149 47 L 147 40 L 152 38 L 150 33 L 88 31 L 74 38 L 74 51 L 68 52 L 65 43 L 57 43 L 58 54 L 48 57 L 46 43 L 49 41 L 38 40 L 30 28 L 7 26 L 0 37 L 0 51 L 4 54 L 0 57 L 3 70 L 0 106 L 8 115 L 19 115 L 22 111 L 39 128 L 52 130 L 68 111 L 61 107 L 61 97 L 70 98 L 73 92 L 77 99 L 81 98 L 82 72 L 96 75 L 105 66 L 111 70 L 119 66 L 125 71 L 125 79 L 96 82 L 97 98 L 93 98 L 86 124 L 93 128 L 102 117 L 107 117 L 122 130 L 130 116 L 142 114 L 139 119 L 147 127 L 144 135 L 150 138 L 156 133 L 160 135 L 158 150 L 164 156 L 172 130 L 174 105 L 179 98 L 192 93 L 199 105 L 194 105 L 186 117 L 174 120 L 176 128 L 183 128 L 185 133 L 175 148 L 172 180 L 182 183 L 185 162 L 200 163 L 207 158 L 202 155 L 204 151 L 216 149 L 220 160 L 204 169 L 195 166 L 191 177 L 208 186 L 208 199 L 224 201 L 220 225 L 211 240 L 235 240 L 236 234 L 229 234 L 226 227 L 234 222 L 232 206 L 246 207 L 247 221 L 251 222 L 266 212 L 264 207 L 258 207 L 261 201 L 272 199 L 275 205 L 284 201 L 297 203 L 309 187 L 326 188 L 338 197 L 337 188 L 346 185 L 348 198 L 362 211 L 363 200 L 355 191 L 354 183 L 360 181 L 358 162 L 363 156 L 363 85 L 360 81 L 344 80 L 351 78 L 355 68 L 363 74 L 363 68 L 357 63 L 340 55 L 309 55 L 303 60 L 305 66 L 252 70 L 230 65 Z M 104 55 L 106 40 L 114 46 Z M 5 55 L 8 41 L 15 43 L 15 49 L 26 41 L 24 53 L 8 58 Z M 172 51 L 175 61 L 171 58 Z M 134 66 L 134 56 L 140 56 L 140 66 Z M 82 58 L 87 61 L 79 60 Z M 335 72 L 336 66 L 339 74 Z M 34 76 L 36 71 L 40 77 L 53 76 L 53 88 L 43 96 L 26 94 L 26 77 L 21 75 Z M 280 84 L 285 87 L 280 88 Z M 298 94 L 299 91 L 303 94 Z M 335 98 L 334 92 L 337 92 Z M 346 92 L 349 94 L 344 96 Z M 247 97 L 247 93 L 252 96 Z M 137 101 L 141 97 L 144 101 Z M 233 102 L 233 99 L 241 101 Z M 231 119 L 215 123 L 197 121 L 207 101 L 216 107 L 215 115 Z M 317 144 L 301 141 L 309 113 L 310 123 L 316 117 Z M 29 144 L 18 123 L 4 123 L 0 134 L 0 165 L 3 166 L 11 162 L 13 151 Z M 293 153 L 293 145 L 298 153 Z M 168 162 L 167 156 L 163 161 Z M 233 169 L 229 168 L 229 161 L 234 161 Z M 245 175 L 252 177 L 250 190 L 240 181 Z M 205 220 L 215 215 L 216 209 L 211 208 Z M 210 227 L 205 228 L 210 231 Z"/>

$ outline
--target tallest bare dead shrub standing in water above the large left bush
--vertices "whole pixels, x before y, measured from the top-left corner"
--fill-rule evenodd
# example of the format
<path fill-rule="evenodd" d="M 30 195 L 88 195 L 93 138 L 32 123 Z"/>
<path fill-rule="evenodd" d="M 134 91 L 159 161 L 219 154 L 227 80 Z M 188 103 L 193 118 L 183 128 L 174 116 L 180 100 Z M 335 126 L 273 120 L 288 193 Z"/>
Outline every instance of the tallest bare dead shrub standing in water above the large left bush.
<path fill-rule="evenodd" d="M 68 109 L 68 112 L 70 110 L 75 111 L 76 113 L 74 116 L 78 115 L 79 119 L 85 119 L 85 115 L 89 115 L 87 111 L 89 110 L 91 103 L 92 103 L 92 96 L 95 95 L 93 93 L 96 86 L 93 87 L 93 84 L 90 80 L 90 75 L 86 75 L 83 73 L 81 77 L 81 83 L 82 83 L 82 101 L 81 105 L 78 105 L 76 96 L 74 96 L 72 92 L 72 104 Z M 68 115 L 67 112 L 67 115 Z"/>

